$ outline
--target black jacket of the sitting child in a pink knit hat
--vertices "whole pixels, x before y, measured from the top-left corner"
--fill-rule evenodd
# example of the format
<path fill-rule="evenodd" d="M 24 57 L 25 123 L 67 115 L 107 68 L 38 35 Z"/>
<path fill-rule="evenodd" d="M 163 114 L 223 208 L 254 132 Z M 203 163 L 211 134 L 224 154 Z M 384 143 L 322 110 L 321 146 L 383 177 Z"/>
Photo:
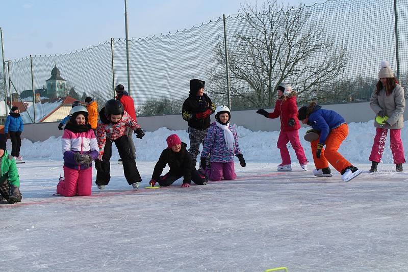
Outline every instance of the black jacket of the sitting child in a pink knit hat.
<path fill-rule="evenodd" d="M 187 144 L 182 142 L 182 148 L 179 152 L 174 152 L 170 148 L 163 150 L 159 161 L 156 163 L 155 170 L 151 176 L 152 180 L 158 181 L 166 164 L 169 165 L 170 175 L 180 175 L 184 177 L 183 183 L 191 183 L 192 162 L 190 153 L 186 150 Z"/>

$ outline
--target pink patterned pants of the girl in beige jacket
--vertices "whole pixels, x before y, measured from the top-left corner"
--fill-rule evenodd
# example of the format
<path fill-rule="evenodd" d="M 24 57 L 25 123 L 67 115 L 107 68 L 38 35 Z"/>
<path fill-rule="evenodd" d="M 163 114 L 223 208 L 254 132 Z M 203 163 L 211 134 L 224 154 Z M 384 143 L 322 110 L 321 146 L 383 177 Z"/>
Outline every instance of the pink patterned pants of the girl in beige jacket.
<path fill-rule="evenodd" d="M 384 151 L 384 146 L 386 144 L 388 129 L 377 128 L 377 133 L 375 134 L 374 144 L 371 149 L 371 154 L 369 160 L 379 162 L 381 160 L 382 151 Z M 401 141 L 401 129 L 390 129 L 390 147 L 392 156 L 394 158 L 394 164 L 403 164 L 405 162 L 404 158 L 404 147 Z"/>

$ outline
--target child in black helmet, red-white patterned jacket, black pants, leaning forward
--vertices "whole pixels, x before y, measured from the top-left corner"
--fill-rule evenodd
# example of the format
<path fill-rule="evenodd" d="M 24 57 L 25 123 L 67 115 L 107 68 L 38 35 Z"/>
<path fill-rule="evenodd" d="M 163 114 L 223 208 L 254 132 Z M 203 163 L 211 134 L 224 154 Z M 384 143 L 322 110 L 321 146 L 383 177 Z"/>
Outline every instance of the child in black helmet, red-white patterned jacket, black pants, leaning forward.
<path fill-rule="evenodd" d="M 96 185 L 104 189 L 108 185 L 110 175 L 110 159 L 112 156 L 112 143 L 114 142 L 119 156 L 123 161 L 123 172 L 127 183 L 137 189 L 142 181 L 133 158 L 132 149 L 127 139 L 127 129 L 132 129 L 137 138 L 142 139 L 144 132 L 133 118 L 126 113 L 119 100 L 111 99 L 105 103 L 99 112 L 100 120 L 96 128 L 96 139 L 99 146 L 99 156 L 95 160 Z"/>

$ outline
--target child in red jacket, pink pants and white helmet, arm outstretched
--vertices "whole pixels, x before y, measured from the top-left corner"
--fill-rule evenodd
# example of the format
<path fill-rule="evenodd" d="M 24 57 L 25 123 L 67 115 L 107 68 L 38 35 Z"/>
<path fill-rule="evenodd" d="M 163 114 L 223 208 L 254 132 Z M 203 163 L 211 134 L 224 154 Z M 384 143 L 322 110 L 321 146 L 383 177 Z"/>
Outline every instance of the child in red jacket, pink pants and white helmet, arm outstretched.
<path fill-rule="evenodd" d="M 281 83 L 277 87 L 278 99 L 275 103 L 273 113 L 268 113 L 264 109 L 257 111 L 266 118 L 281 118 L 281 132 L 277 140 L 277 148 L 281 150 L 282 164 L 277 166 L 278 171 L 291 171 L 292 162 L 290 159 L 289 150 L 287 148 L 288 142 L 295 150 L 299 164 L 304 171 L 308 170 L 308 159 L 304 155 L 303 147 L 299 141 L 300 124 L 297 120 L 297 104 L 296 92 L 292 90 L 292 86 L 286 83 Z"/>

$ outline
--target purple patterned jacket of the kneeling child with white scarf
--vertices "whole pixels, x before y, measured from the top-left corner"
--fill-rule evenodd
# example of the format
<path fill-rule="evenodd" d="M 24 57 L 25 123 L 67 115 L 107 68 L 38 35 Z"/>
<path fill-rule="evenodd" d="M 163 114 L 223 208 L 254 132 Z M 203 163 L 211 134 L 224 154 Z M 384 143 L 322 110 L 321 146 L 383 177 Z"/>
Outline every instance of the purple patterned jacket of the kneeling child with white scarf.
<path fill-rule="evenodd" d="M 210 162 L 231 162 L 234 161 L 234 155 L 241 154 L 238 145 L 238 135 L 235 126 L 228 124 L 231 132 L 234 135 L 234 149 L 230 150 L 226 146 L 224 139 L 224 132 L 216 123 L 212 123 L 204 140 L 204 147 L 202 148 L 201 158 L 207 157 L 210 154 Z"/>

